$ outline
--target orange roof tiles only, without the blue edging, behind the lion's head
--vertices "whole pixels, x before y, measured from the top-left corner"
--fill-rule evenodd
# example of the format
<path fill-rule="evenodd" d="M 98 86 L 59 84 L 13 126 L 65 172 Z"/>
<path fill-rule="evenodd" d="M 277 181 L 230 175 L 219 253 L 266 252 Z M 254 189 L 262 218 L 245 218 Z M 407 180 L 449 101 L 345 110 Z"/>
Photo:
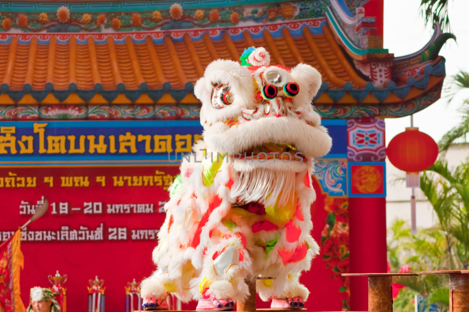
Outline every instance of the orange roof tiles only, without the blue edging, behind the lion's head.
<path fill-rule="evenodd" d="M 224 33 L 223 40 L 212 41 L 207 34 L 192 41 L 188 34 L 182 41 L 165 36 L 161 44 L 153 44 L 151 37 L 143 43 L 116 43 L 111 36 L 97 43 L 92 36 L 87 43 L 79 43 L 70 36 L 68 43 L 58 42 L 51 36 L 48 44 L 38 44 L 36 37 L 29 44 L 18 43 L 15 36 L 9 44 L 0 44 L 0 80 L 10 90 L 22 90 L 30 84 L 33 90 L 44 90 L 47 83 L 55 90 L 67 90 L 74 83 L 78 89 L 91 90 L 101 84 L 104 90 L 115 90 L 120 84 L 135 90 L 143 83 L 150 89 L 159 89 L 169 82 L 174 89 L 187 82 L 195 83 L 205 66 L 216 58 L 238 60 L 244 48 L 264 46 L 272 55 L 272 64 L 295 66 L 305 62 L 318 68 L 330 88 L 341 88 L 352 81 L 363 87 L 366 81 L 348 67 L 338 46 L 324 26 L 323 34 L 311 34 L 303 29 L 303 36 L 292 37 L 287 28 L 281 37 L 273 38 L 265 30 L 263 38 L 253 39 L 244 31 L 240 40 L 232 40 Z"/>

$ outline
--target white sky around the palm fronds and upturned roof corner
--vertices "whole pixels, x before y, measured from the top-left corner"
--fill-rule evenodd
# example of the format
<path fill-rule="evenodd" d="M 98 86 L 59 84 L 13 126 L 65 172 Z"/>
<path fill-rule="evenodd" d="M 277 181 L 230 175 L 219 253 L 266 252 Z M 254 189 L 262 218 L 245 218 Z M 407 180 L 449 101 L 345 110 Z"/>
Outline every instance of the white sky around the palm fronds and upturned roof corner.
<path fill-rule="evenodd" d="M 433 34 L 431 25 L 424 27 L 424 19 L 419 14 L 419 4 L 420 0 L 384 1 L 384 47 L 394 53 L 395 57 L 420 50 Z M 469 71 L 468 12 L 468 0 L 450 0 L 451 30 L 457 38 L 457 44 L 450 40 L 439 53 L 446 58 L 446 80 L 459 70 Z M 461 114 L 458 109 L 464 98 L 469 98 L 467 90 L 458 94 L 449 105 L 444 98 L 431 104 L 414 115 L 414 126 L 438 142 L 446 131 L 460 121 Z M 409 125 L 410 117 L 386 118 L 386 146 L 396 134 L 404 131 Z"/>

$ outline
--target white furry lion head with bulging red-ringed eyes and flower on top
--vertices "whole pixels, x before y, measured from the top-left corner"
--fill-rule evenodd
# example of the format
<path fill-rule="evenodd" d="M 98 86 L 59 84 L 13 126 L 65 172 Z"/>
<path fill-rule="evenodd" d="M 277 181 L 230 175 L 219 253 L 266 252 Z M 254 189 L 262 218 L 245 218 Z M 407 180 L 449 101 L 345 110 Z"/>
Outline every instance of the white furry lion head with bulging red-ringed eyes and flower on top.
<path fill-rule="evenodd" d="M 332 145 L 312 105 L 321 74 L 306 64 L 269 65 L 264 48 L 246 49 L 241 60 L 213 61 L 194 87 L 207 148 L 228 153 L 240 172 L 310 167 Z"/>

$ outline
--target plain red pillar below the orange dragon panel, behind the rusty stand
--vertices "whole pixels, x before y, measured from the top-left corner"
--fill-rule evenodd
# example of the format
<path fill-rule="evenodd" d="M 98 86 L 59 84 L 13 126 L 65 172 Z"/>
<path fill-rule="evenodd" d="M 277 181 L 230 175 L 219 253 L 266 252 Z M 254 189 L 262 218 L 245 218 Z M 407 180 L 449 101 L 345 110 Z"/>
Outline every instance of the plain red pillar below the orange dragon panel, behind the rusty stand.
<path fill-rule="evenodd" d="M 386 198 L 350 197 L 350 273 L 386 273 Z M 368 311 L 367 277 L 350 278 L 352 311 Z"/>

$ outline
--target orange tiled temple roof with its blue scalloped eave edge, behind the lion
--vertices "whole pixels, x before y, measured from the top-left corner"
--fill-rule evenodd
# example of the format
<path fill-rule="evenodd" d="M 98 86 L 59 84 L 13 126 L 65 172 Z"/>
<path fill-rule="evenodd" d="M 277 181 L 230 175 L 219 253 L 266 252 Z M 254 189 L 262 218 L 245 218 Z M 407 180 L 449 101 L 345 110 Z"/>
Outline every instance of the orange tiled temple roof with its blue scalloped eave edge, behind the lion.
<path fill-rule="evenodd" d="M 303 62 L 317 68 L 324 81 L 317 103 L 401 102 L 444 78 L 444 60 L 439 58 L 415 78 L 402 82 L 398 77 L 384 88 L 374 87 L 348 59 L 325 19 L 269 28 L 3 34 L 0 101 L 197 103 L 193 85 L 205 66 L 217 58 L 238 60 L 249 46 L 264 46 L 271 64 L 293 67 Z"/>

